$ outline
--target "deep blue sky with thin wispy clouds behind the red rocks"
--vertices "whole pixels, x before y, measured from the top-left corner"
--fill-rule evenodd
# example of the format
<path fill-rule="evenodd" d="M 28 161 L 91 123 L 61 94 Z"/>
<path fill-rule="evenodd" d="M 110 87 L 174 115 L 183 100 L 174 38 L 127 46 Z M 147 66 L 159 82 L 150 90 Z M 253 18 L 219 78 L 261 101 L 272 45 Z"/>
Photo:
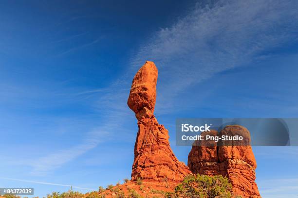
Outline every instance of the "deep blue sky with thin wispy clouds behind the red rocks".
<path fill-rule="evenodd" d="M 135 72 L 155 115 L 297 117 L 298 1 L 1 1 L 0 186 L 88 192 L 130 178 Z M 263 198 L 297 198 L 298 148 L 254 147 Z"/>

